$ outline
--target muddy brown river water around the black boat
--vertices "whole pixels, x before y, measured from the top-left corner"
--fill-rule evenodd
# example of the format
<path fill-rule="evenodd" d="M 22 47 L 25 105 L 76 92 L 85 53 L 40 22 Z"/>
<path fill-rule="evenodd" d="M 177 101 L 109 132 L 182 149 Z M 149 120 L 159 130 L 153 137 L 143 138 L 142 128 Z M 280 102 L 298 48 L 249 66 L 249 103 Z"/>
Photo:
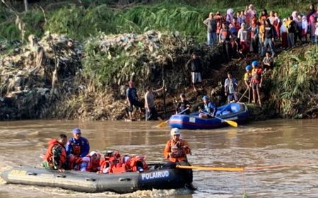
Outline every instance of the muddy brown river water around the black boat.
<path fill-rule="evenodd" d="M 163 148 L 170 138 L 159 122 L 80 122 L 35 120 L 0 122 L 0 171 L 15 165 L 38 165 L 47 141 L 80 127 L 92 150 L 141 154 L 148 163 L 164 162 Z M 244 172 L 194 170 L 188 190 L 148 190 L 131 194 L 88 194 L 52 187 L 5 185 L 0 197 L 318 197 L 318 120 L 266 120 L 237 128 L 182 130 L 192 148 L 192 165 L 261 167 Z"/>

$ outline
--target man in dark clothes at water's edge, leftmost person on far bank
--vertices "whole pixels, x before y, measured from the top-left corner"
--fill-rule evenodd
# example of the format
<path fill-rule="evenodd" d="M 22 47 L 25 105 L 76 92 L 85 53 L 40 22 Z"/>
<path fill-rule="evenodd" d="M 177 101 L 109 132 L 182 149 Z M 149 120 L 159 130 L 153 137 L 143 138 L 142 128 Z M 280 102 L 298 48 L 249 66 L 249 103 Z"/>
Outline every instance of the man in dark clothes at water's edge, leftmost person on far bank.
<path fill-rule="evenodd" d="M 136 107 L 136 110 L 139 109 L 139 112 L 141 112 L 141 107 L 143 104 L 138 101 L 138 95 L 135 88 L 135 83 L 133 81 L 128 82 L 129 88 L 126 90 L 126 99 L 128 103 L 128 113 L 129 113 L 129 119 L 133 120 L 131 114 L 134 110 L 134 106 Z"/>

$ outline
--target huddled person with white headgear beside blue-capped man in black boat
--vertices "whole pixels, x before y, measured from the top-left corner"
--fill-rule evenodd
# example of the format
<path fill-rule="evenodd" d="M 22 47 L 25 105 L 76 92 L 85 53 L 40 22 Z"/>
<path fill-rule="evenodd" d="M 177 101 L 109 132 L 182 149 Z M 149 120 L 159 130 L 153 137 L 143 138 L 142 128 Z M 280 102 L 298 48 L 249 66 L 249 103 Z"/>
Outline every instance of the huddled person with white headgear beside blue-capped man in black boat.
<path fill-rule="evenodd" d="M 82 158 L 81 171 L 98 172 L 100 171 L 100 153 L 91 151 Z"/>

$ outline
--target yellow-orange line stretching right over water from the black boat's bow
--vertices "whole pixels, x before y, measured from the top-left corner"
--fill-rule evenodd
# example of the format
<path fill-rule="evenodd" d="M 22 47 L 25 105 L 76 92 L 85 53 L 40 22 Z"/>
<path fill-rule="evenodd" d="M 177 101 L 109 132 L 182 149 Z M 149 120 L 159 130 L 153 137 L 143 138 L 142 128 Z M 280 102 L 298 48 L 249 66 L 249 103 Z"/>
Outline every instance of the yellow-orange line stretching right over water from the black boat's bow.
<path fill-rule="evenodd" d="M 317 161 L 308 161 L 303 163 L 285 163 L 278 165 L 261 165 L 261 166 L 251 166 L 251 167 L 208 167 L 208 166 L 197 166 L 197 165 L 177 165 L 177 168 L 184 169 L 196 169 L 196 170 L 214 170 L 214 171 L 229 171 L 229 172 L 241 172 L 241 171 L 252 171 L 252 170 L 265 170 L 269 168 L 284 168 L 293 166 L 306 166 L 306 165 L 318 165 Z"/>

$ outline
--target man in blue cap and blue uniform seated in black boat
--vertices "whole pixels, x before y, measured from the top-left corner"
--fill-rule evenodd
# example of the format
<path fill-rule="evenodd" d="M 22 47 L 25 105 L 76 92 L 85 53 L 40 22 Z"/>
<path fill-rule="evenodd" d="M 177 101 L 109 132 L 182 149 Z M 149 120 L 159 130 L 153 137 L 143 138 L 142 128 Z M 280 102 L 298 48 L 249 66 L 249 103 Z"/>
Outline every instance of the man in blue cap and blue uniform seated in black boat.
<path fill-rule="evenodd" d="M 81 129 L 73 129 L 73 137 L 66 144 L 66 153 L 69 156 L 72 154 L 76 157 L 85 157 L 90 151 L 88 139 L 81 136 Z"/>

